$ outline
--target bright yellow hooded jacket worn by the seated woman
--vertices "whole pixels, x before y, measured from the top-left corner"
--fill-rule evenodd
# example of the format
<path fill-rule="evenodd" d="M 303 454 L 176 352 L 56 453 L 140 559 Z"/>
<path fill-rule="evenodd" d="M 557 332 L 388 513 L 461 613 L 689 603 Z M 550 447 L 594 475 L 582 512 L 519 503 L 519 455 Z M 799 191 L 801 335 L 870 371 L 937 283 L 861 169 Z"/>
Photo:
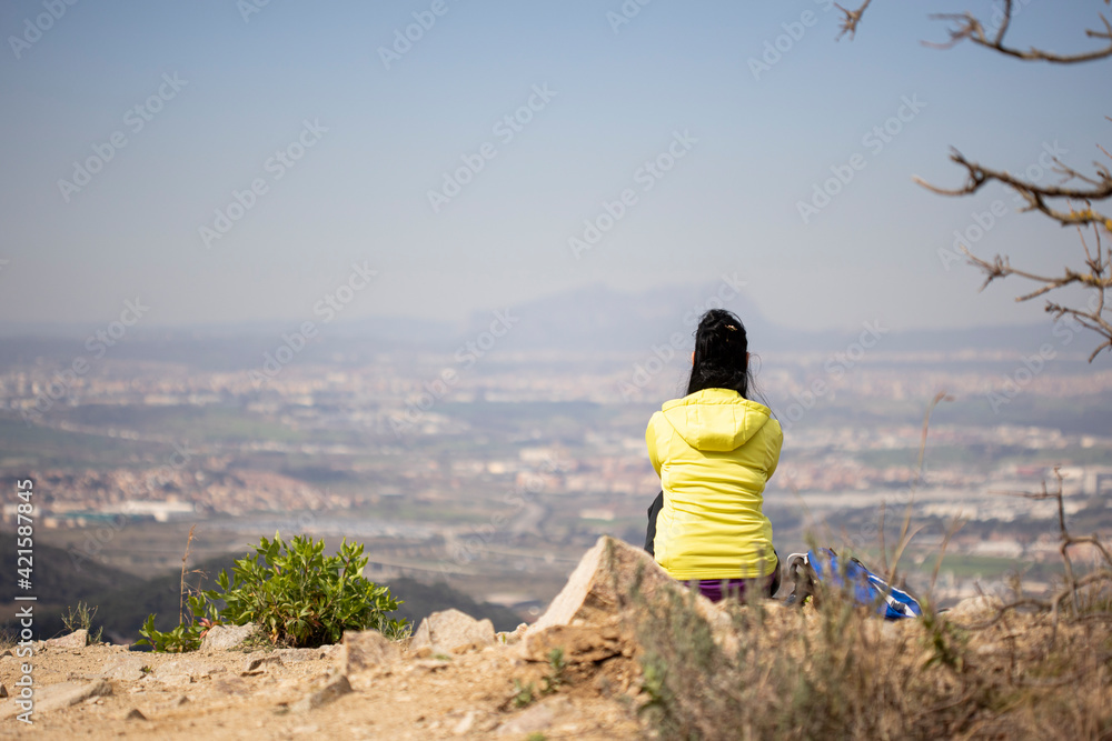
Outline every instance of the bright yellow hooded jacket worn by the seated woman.
<path fill-rule="evenodd" d="M 776 569 L 761 511 L 784 433 L 764 404 L 728 389 L 673 399 L 645 431 L 664 509 L 653 541 L 674 579 L 752 579 Z"/>

